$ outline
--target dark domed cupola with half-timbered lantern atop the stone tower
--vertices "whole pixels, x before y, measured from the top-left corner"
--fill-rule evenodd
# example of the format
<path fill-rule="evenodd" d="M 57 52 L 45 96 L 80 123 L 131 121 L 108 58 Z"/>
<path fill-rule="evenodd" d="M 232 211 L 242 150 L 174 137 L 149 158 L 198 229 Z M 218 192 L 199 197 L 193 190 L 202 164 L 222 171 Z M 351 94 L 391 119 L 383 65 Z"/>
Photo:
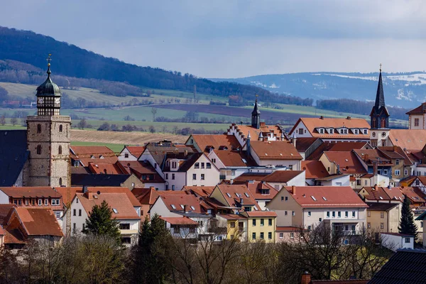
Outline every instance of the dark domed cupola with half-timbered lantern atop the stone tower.
<path fill-rule="evenodd" d="M 60 115 L 60 89 L 50 78 L 50 54 L 48 57 L 48 78 L 37 88 L 37 115 Z"/>

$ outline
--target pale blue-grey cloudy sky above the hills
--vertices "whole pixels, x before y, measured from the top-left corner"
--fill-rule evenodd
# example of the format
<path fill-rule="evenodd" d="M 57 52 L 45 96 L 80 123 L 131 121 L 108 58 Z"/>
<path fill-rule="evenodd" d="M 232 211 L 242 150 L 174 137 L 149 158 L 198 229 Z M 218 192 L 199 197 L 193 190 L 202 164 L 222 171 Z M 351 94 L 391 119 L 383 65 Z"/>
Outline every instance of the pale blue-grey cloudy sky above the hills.
<path fill-rule="evenodd" d="M 426 69 L 425 0 L 0 0 L 0 26 L 200 77 Z"/>

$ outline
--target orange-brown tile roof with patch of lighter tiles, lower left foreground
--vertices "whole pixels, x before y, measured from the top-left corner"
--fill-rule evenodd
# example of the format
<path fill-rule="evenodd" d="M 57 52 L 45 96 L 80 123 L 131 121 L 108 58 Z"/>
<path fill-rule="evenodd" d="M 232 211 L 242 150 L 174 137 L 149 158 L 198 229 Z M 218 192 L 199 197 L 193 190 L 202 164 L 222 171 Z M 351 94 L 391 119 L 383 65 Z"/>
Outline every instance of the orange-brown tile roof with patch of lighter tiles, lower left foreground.
<path fill-rule="evenodd" d="M 14 210 L 28 236 L 63 236 L 52 209 L 16 207 Z"/>

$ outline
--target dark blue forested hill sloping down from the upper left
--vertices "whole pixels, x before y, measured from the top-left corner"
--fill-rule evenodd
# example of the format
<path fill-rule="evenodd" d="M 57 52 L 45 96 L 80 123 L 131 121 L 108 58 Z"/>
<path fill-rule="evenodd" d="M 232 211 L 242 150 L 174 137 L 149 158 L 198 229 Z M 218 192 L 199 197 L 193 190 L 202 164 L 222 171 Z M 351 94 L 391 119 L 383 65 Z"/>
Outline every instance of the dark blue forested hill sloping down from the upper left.
<path fill-rule="evenodd" d="M 53 72 L 68 77 L 128 82 L 135 86 L 189 92 L 195 85 L 197 92 L 220 97 L 237 96 L 240 101 L 251 101 L 256 94 L 264 102 L 280 102 L 283 99 L 260 87 L 236 82 L 212 82 L 190 74 L 181 75 L 180 72 L 127 64 L 49 36 L 0 26 L 0 60 L 16 60 L 44 70 L 48 53 L 53 54 Z"/>

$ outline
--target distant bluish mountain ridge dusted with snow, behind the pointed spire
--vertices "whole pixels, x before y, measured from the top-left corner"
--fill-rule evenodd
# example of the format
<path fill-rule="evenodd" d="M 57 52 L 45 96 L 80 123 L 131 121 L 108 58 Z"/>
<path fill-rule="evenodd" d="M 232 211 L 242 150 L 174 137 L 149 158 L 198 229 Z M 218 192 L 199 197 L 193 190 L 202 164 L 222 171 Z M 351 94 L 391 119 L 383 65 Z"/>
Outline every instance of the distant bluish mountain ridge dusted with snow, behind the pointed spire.
<path fill-rule="evenodd" d="M 414 108 L 426 100 L 426 72 L 382 73 L 386 104 Z M 251 84 L 271 92 L 319 99 L 356 99 L 372 102 L 376 97 L 378 73 L 303 72 L 257 75 L 244 78 L 214 78 Z"/>

